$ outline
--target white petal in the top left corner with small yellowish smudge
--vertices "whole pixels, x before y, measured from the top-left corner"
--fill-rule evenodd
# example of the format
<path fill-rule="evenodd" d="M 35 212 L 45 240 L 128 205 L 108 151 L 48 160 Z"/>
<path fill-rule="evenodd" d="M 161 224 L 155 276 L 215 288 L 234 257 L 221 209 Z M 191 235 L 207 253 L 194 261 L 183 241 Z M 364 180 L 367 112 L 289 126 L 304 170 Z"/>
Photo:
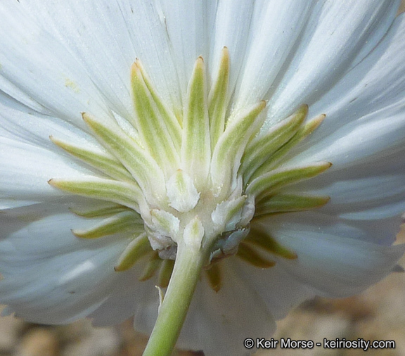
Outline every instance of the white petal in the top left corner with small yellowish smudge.
<path fill-rule="evenodd" d="M 37 25 L 27 8 L 16 1 L 1 2 L 0 12 L 2 77 L 65 120 L 81 123 L 83 111 L 108 113 L 82 64 Z"/>

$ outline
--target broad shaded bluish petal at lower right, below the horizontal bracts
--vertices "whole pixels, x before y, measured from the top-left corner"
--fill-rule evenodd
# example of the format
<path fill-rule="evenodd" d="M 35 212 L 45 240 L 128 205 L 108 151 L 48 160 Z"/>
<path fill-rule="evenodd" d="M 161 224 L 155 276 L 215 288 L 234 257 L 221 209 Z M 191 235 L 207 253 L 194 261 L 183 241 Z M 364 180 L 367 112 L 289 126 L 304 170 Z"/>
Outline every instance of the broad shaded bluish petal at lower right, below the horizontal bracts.
<path fill-rule="evenodd" d="M 270 222 L 270 220 L 269 220 Z M 278 259 L 286 271 L 328 297 L 359 293 L 392 272 L 405 246 L 381 246 L 351 237 L 359 229 L 344 222 L 309 215 L 271 220 L 271 234 L 297 253 L 296 260 Z M 345 236 L 345 237 L 343 237 Z"/>

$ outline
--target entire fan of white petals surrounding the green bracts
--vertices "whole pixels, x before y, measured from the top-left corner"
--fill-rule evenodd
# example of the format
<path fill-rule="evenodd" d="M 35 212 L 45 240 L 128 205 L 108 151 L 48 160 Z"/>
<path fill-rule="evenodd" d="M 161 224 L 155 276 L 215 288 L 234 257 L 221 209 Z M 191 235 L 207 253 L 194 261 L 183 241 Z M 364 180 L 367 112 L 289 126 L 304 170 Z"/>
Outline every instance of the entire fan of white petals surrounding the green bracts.
<path fill-rule="evenodd" d="M 325 125 L 300 146 L 296 159 L 335 163 L 330 172 L 305 183 L 308 191 L 332 199 L 319 212 L 269 220 L 269 229 L 297 253 L 297 260 L 278 258 L 266 271 L 224 261 L 219 293 L 203 279 L 179 346 L 204 348 L 206 355 L 247 352 L 243 338 L 269 337 L 274 331 L 271 313 L 283 317 L 316 293 L 359 292 L 392 270 L 404 252 L 389 246 L 405 208 L 405 165 L 398 159 L 403 151 L 392 148 L 405 136 L 401 20 L 361 60 L 387 32 L 399 0 L 257 1 L 254 11 L 252 4 L 0 3 L 0 90 L 22 103 L 0 96 L 0 190 L 8 208 L 35 203 L 18 210 L 30 214 L 0 215 L 5 276 L 0 301 L 9 303 L 9 310 L 47 323 L 92 313 L 101 325 L 135 314 L 136 327 L 150 332 L 158 312 L 153 280 L 136 282 L 138 265 L 113 271 L 127 245 L 124 236 L 85 241 L 72 235 L 70 229 L 89 222 L 67 212 L 64 194 L 46 182 L 77 177 L 84 169 L 66 159 L 48 136 L 86 140 L 77 129 L 84 127 L 82 111 L 110 118 L 110 109 L 131 115 L 128 73 L 135 56 L 165 101 L 180 110 L 195 58 L 209 58 L 212 75 L 224 45 L 231 53 L 231 88 L 237 87 L 238 105 L 270 99 L 275 120 L 303 102 L 311 114 L 326 110 Z M 311 6 L 315 11 L 309 18 Z M 378 110 L 385 110 L 384 116 Z M 373 162 L 364 160 L 371 155 Z M 354 170 L 347 173 L 347 167 Z M 45 210 L 39 203 L 44 201 Z M 370 224 L 376 218 L 377 227 Z"/>

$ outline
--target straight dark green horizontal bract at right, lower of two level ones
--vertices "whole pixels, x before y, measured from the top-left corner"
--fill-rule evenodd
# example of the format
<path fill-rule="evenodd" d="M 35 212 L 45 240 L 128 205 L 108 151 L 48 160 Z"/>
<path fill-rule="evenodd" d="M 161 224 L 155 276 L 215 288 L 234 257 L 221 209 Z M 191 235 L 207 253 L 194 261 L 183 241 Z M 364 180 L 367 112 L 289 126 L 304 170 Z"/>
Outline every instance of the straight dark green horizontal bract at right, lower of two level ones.
<path fill-rule="evenodd" d="M 278 212 L 294 212 L 321 208 L 328 203 L 328 196 L 310 196 L 298 194 L 278 193 L 262 199 L 256 205 L 255 217 Z"/>

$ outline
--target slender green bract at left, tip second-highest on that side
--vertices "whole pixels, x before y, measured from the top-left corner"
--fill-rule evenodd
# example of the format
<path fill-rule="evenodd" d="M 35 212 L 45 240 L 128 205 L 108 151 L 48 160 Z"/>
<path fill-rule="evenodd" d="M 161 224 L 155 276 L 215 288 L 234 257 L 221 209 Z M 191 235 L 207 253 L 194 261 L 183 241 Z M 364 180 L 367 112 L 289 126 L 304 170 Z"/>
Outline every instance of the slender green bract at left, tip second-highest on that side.
<path fill-rule="evenodd" d="M 79 160 L 91 165 L 91 167 L 96 168 L 96 170 L 99 170 L 100 172 L 108 174 L 112 178 L 124 181 L 133 180 L 131 174 L 125 169 L 120 161 L 107 152 L 101 153 L 91 151 L 88 148 L 69 144 L 66 141 L 56 139 L 53 136 L 50 136 L 49 139 L 51 139 L 56 146 L 63 148 L 66 152 L 79 158 Z"/>

